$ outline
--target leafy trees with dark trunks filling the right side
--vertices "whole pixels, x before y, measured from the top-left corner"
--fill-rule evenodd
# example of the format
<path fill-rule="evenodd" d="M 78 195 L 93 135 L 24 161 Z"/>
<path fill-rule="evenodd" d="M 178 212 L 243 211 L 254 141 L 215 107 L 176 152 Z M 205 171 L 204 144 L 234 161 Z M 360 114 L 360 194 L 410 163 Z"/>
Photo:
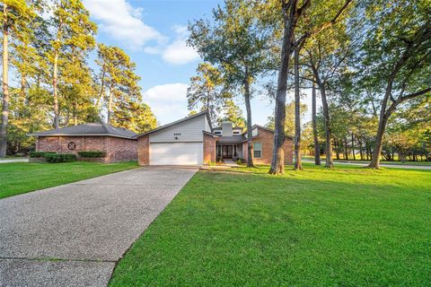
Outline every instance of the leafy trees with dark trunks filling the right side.
<path fill-rule="evenodd" d="M 273 100 L 270 173 L 284 170 L 285 135 L 295 139 L 295 170 L 304 152 L 316 164 L 324 154 L 328 168 L 333 158 L 370 168 L 381 159 L 431 161 L 429 0 L 226 0 L 189 22 L 189 32 L 205 61 L 191 79 L 190 109 L 198 99 L 216 120 L 241 96 L 250 131 L 251 98 L 265 91 Z M 305 90 L 312 107 L 303 105 Z M 286 104 L 287 92 L 294 101 Z M 312 121 L 301 123 L 310 108 Z"/>

